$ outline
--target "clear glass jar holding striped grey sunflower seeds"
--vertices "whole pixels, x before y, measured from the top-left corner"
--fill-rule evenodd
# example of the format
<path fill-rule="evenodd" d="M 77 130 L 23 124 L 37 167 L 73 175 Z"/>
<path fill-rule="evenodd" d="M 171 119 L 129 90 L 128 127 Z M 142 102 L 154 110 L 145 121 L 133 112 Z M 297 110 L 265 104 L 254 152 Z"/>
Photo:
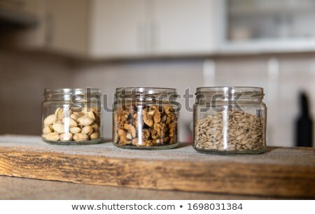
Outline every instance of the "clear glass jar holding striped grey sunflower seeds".
<path fill-rule="evenodd" d="M 260 87 L 199 87 L 194 105 L 198 152 L 255 154 L 266 149 L 267 106 Z"/>

